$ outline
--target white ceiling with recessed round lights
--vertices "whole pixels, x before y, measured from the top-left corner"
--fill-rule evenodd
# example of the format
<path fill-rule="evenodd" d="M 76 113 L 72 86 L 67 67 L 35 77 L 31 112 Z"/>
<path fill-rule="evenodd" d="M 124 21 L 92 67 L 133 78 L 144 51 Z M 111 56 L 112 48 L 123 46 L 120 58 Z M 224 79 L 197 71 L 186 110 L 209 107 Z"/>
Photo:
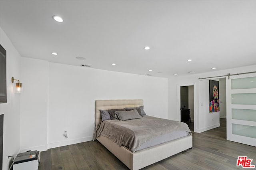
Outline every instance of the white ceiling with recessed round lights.
<path fill-rule="evenodd" d="M 0 0 L 0 27 L 23 57 L 96 69 L 171 77 L 256 64 L 256 0 Z"/>

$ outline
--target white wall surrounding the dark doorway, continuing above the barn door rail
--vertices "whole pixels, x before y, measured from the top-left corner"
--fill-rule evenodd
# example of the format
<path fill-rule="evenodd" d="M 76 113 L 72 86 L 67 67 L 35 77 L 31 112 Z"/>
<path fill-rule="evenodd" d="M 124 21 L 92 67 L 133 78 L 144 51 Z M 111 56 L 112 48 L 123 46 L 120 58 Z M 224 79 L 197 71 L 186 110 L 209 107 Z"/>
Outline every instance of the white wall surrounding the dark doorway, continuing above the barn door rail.
<path fill-rule="evenodd" d="M 177 86 L 185 86 L 195 84 L 196 87 L 196 113 L 194 113 L 194 119 L 196 121 L 195 132 L 203 132 L 212 127 L 219 126 L 219 120 L 217 113 L 209 113 L 209 87 L 208 80 L 198 80 L 199 77 L 212 77 L 219 75 L 245 73 L 255 71 L 256 65 L 247 67 L 238 67 L 235 69 L 226 69 L 221 71 L 212 71 L 202 74 L 188 74 L 181 77 L 170 77 L 168 79 L 168 119 L 177 120 Z M 234 75 L 236 76 L 236 75 Z M 201 103 L 203 104 L 201 106 Z M 212 114 L 212 115 L 211 115 Z M 207 115 L 207 116 L 206 116 Z M 215 117 L 216 116 L 216 117 Z M 213 119 L 213 121 L 212 121 Z"/>

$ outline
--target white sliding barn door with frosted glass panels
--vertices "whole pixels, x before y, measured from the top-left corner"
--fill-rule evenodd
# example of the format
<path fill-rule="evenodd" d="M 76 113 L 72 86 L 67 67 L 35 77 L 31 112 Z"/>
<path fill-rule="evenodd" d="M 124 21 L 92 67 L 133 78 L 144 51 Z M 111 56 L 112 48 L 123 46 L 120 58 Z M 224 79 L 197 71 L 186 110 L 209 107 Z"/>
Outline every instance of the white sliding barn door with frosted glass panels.
<path fill-rule="evenodd" d="M 256 146 L 256 74 L 226 78 L 227 140 Z"/>

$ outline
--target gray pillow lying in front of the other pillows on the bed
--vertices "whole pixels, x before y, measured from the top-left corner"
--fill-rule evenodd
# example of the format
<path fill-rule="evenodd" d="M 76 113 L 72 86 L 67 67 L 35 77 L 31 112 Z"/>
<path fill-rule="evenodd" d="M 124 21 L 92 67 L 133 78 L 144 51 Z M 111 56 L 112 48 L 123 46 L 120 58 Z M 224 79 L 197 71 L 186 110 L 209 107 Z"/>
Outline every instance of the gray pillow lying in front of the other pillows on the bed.
<path fill-rule="evenodd" d="M 118 119 L 119 121 L 142 118 L 142 116 L 140 116 L 140 114 L 136 109 L 131 111 L 116 111 L 115 115 L 116 115 L 116 119 Z"/>

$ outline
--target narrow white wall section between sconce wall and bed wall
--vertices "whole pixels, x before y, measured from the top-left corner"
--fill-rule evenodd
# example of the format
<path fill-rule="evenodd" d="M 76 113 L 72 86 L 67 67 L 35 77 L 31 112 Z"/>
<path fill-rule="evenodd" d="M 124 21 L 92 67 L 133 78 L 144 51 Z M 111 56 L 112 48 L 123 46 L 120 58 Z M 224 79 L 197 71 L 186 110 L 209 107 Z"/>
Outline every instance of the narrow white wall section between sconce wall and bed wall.
<path fill-rule="evenodd" d="M 21 57 L 20 148 L 47 150 L 48 61 Z"/>

